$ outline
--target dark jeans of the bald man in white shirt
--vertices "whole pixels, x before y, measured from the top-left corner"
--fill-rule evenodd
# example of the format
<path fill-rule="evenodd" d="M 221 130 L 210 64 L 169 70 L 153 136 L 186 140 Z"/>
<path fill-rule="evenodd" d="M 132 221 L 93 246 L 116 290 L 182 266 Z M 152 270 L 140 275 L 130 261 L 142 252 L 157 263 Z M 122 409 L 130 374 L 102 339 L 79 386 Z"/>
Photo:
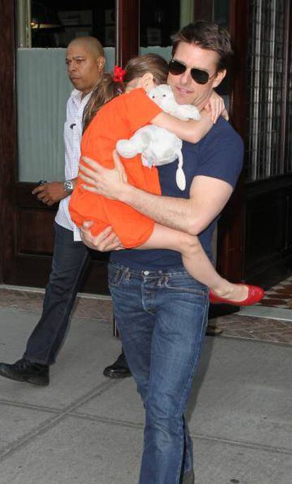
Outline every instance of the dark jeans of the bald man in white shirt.
<path fill-rule="evenodd" d="M 55 223 L 54 256 L 44 295 L 42 316 L 32 331 L 23 357 L 51 365 L 63 345 L 71 309 L 80 287 L 90 251 L 73 241 L 73 232 Z"/>

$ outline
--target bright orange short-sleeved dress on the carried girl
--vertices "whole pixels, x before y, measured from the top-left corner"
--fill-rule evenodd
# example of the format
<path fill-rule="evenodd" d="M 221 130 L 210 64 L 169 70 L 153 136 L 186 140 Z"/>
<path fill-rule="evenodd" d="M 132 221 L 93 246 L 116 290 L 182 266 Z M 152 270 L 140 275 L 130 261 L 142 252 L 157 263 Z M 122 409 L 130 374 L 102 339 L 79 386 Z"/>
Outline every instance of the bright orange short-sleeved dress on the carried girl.
<path fill-rule="evenodd" d="M 105 168 L 114 168 L 112 152 L 118 139 L 128 139 L 161 113 L 162 109 L 147 96 L 144 89 L 133 89 L 105 104 L 92 119 L 81 140 L 81 158 L 88 156 Z M 142 165 L 140 155 L 122 158 L 130 185 L 160 195 L 157 168 Z M 86 166 L 84 161 L 81 161 Z M 109 225 L 126 248 L 138 247 L 152 234 L 154 221 L 121 201 L 84 190 L 78 177 L 71 195 L 69 211 L 73 222 L 81 227 L 84 221 L 94 221 L 92 235 Z"/>

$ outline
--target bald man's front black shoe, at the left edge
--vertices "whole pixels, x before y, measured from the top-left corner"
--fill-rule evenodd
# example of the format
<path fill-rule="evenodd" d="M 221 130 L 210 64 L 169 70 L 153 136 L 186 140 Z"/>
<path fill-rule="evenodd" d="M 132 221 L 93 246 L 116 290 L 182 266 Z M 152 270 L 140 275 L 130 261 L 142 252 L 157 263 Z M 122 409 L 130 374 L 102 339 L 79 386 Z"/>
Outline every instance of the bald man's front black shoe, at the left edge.
<path fill-rule="evenodd" d="M 0 363 L 0 375 L 11 380 L 26 381 L 42 387 L 49 385 L 49 366 L 32 363 L 24 358 L 12 365 Z"/>

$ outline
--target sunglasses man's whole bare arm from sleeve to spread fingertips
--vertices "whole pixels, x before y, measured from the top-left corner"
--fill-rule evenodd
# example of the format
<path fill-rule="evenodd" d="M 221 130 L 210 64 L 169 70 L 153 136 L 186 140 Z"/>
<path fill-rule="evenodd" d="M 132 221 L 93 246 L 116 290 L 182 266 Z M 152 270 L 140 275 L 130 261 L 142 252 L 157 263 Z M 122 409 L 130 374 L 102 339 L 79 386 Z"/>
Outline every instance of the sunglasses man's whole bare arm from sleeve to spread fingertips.
<path fill-rule="evenodd" d="M 126 172 L 116 151 L 114 169 L 104 168 L 86 158 L 88 167 L 80 168 L 85 190 L 112 200 L 123 201 L 143 215 L 165 227 L 199 235 L 224 208 L 232 193 L 232 185 L 220 178 L 197 175 L 190 185 L 190 197 L 181 199 L 144 192 L 128 185 Z"/>

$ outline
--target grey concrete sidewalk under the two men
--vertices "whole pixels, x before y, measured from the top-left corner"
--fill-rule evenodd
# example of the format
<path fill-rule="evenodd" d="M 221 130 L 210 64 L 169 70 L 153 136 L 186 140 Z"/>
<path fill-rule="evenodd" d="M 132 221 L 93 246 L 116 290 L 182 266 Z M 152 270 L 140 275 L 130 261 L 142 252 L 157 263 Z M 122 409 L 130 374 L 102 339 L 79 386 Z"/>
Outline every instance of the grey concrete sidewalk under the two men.
<path fill-rule="evenodd" d="M 0 308 L 1 361 L 37 318 Z M 49 387 L 0 377 L 1 484 L 137 484 L 142 404 L 132 378 L 102 376 L 119 351 L 107 321 L 75 317 Z M 196 484 L 291 484 L 291 359 L 291 346 L 207 337 L 188 409 Z"/>

